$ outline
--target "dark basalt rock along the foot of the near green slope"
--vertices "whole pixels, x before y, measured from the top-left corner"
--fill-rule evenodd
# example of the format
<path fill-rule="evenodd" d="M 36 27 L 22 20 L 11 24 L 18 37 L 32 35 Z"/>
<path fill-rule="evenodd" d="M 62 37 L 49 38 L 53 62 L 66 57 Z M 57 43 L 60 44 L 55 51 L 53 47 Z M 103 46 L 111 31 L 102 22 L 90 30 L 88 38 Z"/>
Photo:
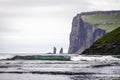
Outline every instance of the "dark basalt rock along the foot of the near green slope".
<path fill-rule="evenodd" d="M 120 55 L 120 42 L 98 44 L 94 43 L 82 54 L 86 55 Z"/>

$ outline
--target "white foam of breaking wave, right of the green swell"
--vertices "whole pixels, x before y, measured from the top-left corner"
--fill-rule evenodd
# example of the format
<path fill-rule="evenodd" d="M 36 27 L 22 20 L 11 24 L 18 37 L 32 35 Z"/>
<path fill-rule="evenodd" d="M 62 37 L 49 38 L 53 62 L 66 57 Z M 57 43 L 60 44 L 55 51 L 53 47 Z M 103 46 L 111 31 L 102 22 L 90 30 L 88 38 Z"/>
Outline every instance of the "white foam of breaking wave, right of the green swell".
<path fill-rule="evenodd" d="M 98 56 L 98 57 L 91 57 L 91 56 L 76 56 L 71 57 L 72 61 L 110 61 L 110 60 L 120 60 L 118 58 L 112 57 L 112 56 Z"/>

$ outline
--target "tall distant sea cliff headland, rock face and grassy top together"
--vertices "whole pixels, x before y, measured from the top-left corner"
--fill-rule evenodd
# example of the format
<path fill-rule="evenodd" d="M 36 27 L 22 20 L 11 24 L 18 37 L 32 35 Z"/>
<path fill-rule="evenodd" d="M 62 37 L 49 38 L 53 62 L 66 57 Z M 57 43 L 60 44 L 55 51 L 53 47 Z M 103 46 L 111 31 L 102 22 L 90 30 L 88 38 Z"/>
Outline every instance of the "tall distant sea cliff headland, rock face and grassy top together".
<path fill-rule="evenodd" d="M 81 54 L 96 40 L 119 26 L 120 11 L 94 11 L 77 14 L 72 22 L 68 54 Z"/>

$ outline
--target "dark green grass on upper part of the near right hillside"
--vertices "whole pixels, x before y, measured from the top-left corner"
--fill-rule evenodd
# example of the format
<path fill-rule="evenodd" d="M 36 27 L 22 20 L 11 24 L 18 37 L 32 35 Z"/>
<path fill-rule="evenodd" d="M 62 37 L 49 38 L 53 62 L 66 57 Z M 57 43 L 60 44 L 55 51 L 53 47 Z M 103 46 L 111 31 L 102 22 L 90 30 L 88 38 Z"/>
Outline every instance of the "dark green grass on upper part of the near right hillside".
<path fill-rule="evenodd" d="M 114 42 L 120 42 L 120 27 L 104 35 L 102 38 L 96 41 L 96 43 L 99 44 L 114 43 Z"/>

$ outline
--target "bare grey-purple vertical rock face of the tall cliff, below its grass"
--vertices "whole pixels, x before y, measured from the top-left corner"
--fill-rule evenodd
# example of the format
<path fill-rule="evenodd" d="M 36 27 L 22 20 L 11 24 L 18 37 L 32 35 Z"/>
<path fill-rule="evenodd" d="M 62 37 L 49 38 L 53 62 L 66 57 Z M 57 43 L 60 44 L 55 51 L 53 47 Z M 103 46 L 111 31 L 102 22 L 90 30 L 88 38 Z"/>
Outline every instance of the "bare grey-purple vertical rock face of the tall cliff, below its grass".
<path fill-rule="evenodd" d="M 93 42 L 106 33 L 105 30 L 95 28 L 96 25 L 84 22 L 82 15 L 78 14 L 73 18 L 72 30 L 70 33 L 69 54 L 83 52 L 86 48 L 89 48 Z"/>

